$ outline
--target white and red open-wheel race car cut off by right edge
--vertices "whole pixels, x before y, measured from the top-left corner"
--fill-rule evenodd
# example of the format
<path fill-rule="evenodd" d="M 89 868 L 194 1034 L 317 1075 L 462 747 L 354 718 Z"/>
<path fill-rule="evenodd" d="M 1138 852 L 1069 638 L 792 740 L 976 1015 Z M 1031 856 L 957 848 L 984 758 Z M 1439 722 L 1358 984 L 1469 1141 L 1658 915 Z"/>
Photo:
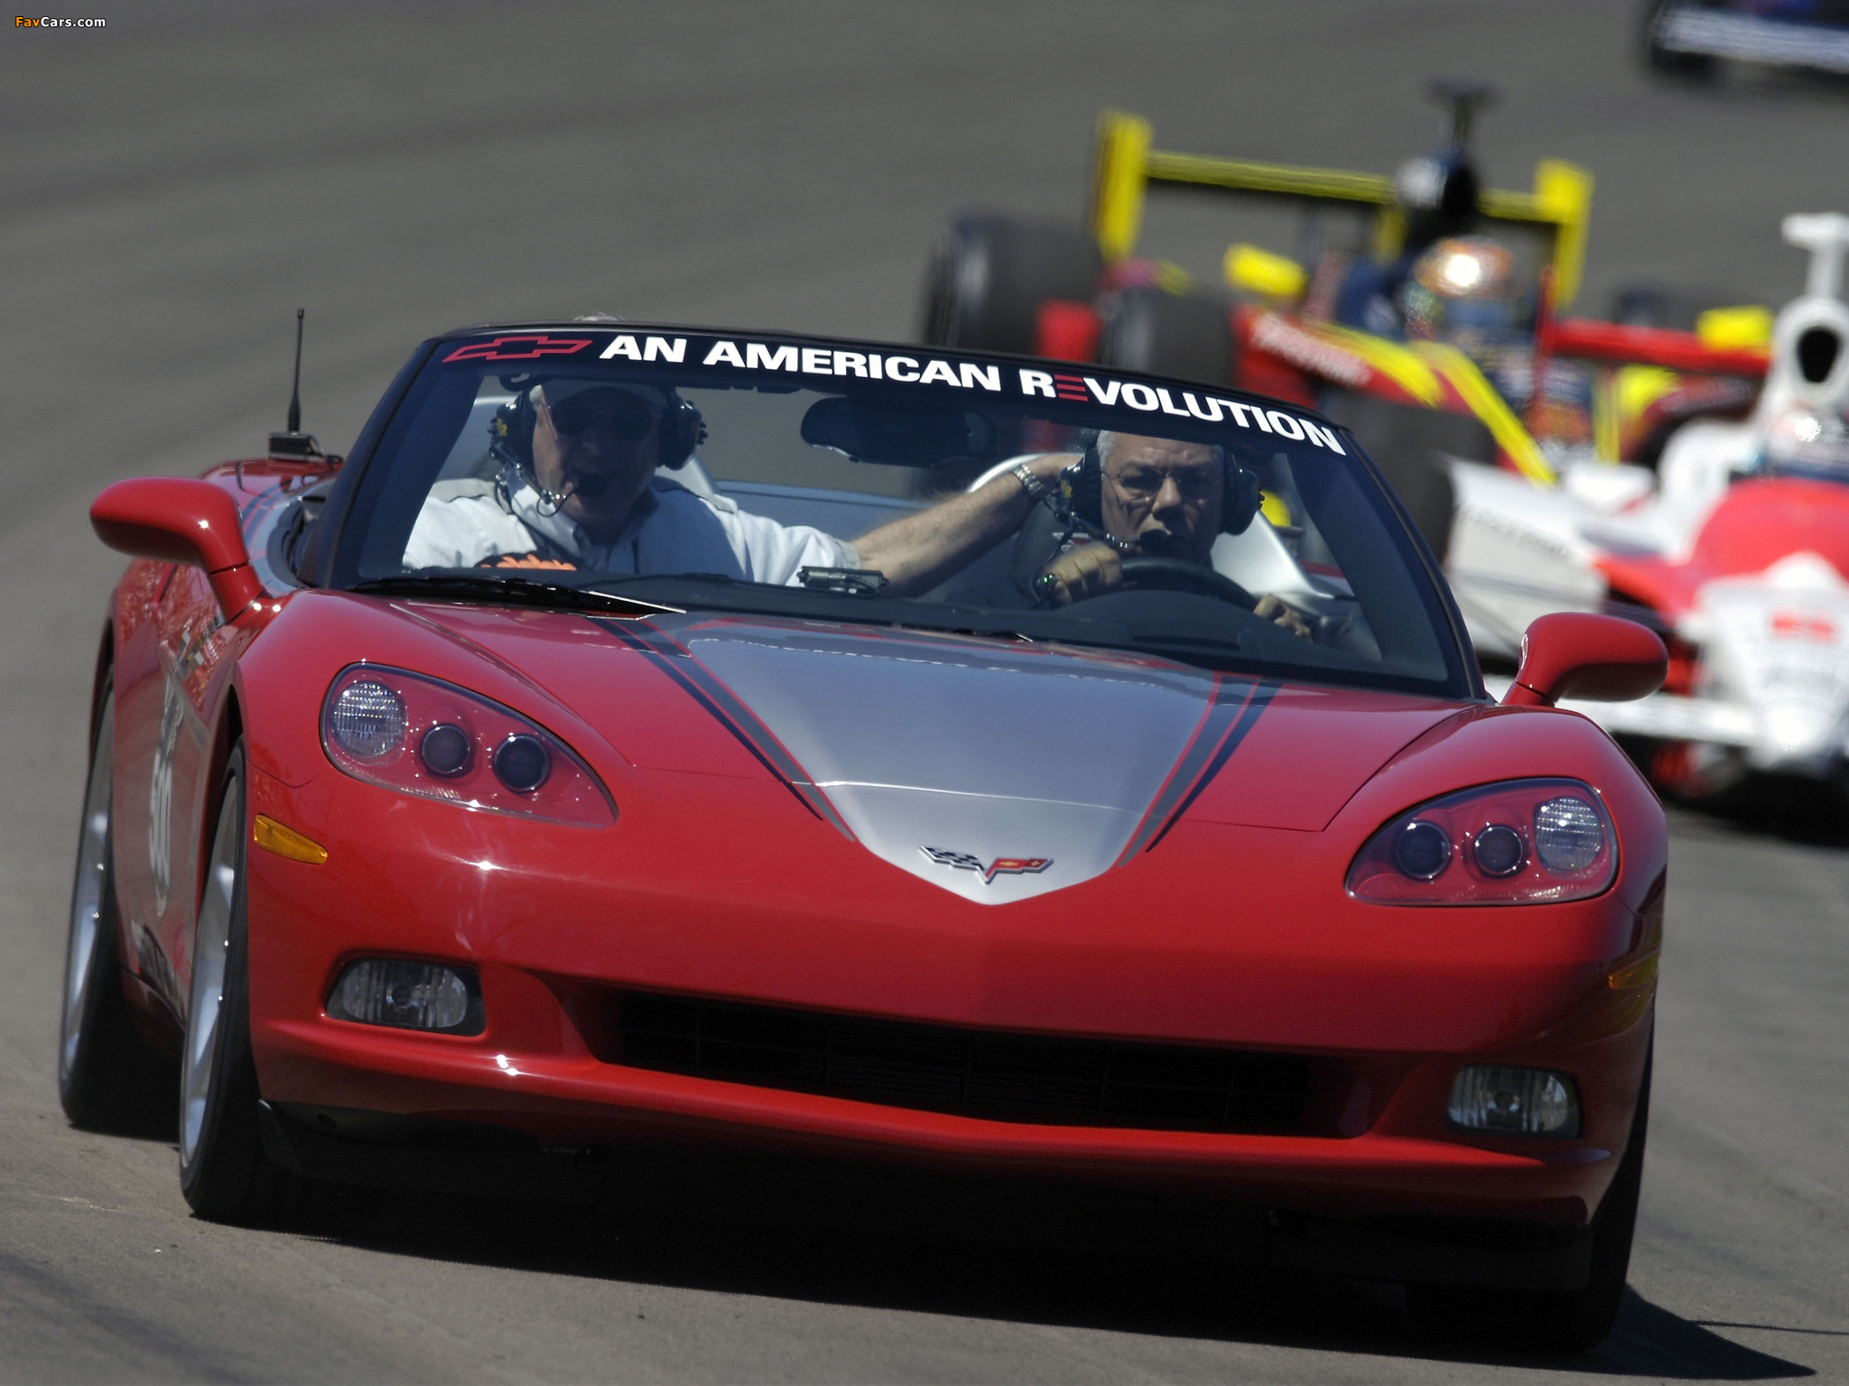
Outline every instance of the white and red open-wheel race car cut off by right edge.
<path fill-rule="evenodd" d="M 1666 687 L 1581 711 L 1684 796 L 1753 772 L 1840 787 L 1849 760 L 1849 218 L 1788 216 L 1784 238 L 1810 274 L 1749 418 L 1686 421 L 1653 468 L 1570 466 L 1549 490 L 1451 464 L 1448 569 L 1479 647 L 1549 610 L 1657 628 Z"/>

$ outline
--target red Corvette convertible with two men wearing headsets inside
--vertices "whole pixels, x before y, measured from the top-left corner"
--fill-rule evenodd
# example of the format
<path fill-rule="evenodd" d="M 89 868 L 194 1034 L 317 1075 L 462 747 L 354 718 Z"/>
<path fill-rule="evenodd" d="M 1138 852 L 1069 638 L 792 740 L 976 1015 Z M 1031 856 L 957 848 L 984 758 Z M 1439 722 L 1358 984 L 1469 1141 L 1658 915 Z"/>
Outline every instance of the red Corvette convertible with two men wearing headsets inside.
<path fill-rule="evenodd" d="M 107 1125 L 178 1050 L 200 1216 L 754 1148 L 1211 1198 L 1268 1264 L 1609 1329 L 1666 833 L 1551 704 L 1664 652 L 1546 617 L 1494 704 L 1313 412 L 520 325 L 420 346 L 344 460 L 91 517 L 135 562 L 59 1087 Z"/>

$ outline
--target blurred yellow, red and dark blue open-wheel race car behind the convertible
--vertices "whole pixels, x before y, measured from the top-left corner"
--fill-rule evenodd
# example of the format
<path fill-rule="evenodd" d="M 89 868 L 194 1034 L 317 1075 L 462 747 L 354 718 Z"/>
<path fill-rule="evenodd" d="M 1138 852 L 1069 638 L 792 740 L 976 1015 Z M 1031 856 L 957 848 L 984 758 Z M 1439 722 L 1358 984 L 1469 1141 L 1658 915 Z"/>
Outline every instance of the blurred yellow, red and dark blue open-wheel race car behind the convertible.
<path fill-rule="evenodd" d="M 1146 120 L 1108 111 L 1084 224 L 954 216 L 932 249 L 923 336 L 1316 407 L 1366 444 L 1440 560 L 1453 458 L 1553 488 L 1573 462 L 1653 466 L 1679 425 L 1747 414 L 1769 314 L 1642 283 L 1616 294 L 1618 322 L 1562 318 L 1592 176 L 1544 159 L 1531 190 L 1485 187 L 1470 128 L 1490 92 L 1433 94 L 1450 107 L 1442 146 L 1390 177 L 1165 152 Z M 1296 253 L 1235 242 L 1226 283 L 1196 283 L 1137 253 L 1154 192 L 1230 214 L 1296 209 Z M 1472 621 L 1472 634 L 1514 656 L 1507 632 Z"/>

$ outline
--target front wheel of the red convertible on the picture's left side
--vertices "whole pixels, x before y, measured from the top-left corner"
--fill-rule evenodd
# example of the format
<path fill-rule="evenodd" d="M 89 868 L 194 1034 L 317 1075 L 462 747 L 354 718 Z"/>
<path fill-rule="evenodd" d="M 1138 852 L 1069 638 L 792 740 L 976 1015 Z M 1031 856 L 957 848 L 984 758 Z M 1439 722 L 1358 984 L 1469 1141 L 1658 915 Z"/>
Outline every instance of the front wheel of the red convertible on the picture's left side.
<path fill-rule="evenodd" d="M 179 1192 L 207 1222 L 257 1225 L 300 1194 L 263 1149 L 250 1048 L 244 747 L 231 748 L 213 819 L 192 944 L 179 1074 Z"/>

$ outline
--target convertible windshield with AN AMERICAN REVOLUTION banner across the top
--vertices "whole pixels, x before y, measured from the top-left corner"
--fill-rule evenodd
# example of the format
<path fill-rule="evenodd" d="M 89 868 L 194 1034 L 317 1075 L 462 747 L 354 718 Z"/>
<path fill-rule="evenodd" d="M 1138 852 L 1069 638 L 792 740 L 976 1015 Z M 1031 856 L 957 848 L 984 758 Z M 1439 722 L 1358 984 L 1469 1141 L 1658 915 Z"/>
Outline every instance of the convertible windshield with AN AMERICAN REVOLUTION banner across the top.
<path fill-rule="evenodd" d="M 544 584 L 1470 695 L 1350 434 L 1087 366 L 610 329 L 442 342 L 338 543 L 361 590 Z"/>

